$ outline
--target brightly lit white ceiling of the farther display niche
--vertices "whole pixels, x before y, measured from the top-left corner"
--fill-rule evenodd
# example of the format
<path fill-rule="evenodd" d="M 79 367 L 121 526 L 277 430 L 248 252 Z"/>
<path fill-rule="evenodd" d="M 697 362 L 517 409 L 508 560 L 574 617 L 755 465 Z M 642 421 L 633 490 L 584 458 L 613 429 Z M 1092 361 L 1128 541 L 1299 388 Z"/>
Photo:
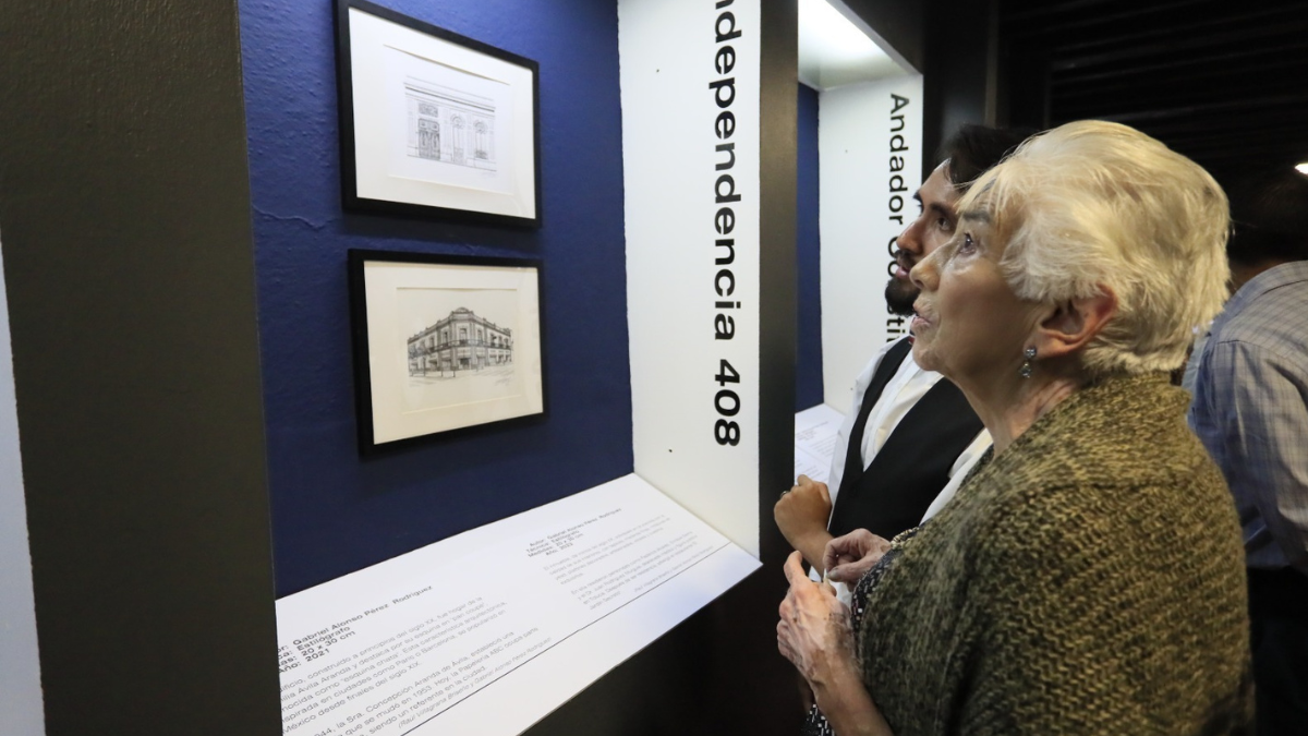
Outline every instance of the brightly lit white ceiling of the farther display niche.
<path fill-rule="evenodd" d="M 799 0 L 799 81 L 824 90 L 908 73 L 857 18 L 840 0 Z"/>

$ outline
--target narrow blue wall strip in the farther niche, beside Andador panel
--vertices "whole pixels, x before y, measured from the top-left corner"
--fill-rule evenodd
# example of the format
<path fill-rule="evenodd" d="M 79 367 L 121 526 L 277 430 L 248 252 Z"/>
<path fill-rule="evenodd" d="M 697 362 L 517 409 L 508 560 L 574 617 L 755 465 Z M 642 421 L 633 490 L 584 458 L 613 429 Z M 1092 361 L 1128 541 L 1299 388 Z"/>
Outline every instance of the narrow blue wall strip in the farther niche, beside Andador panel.
<path fill-rule="evenodd" d="M 818 262 L 818 92 L 799 85 L 799 165 L 795 244 L 798 259 L 799 325 L 795 330 L 795 411 L 818 406 L 821 392 L 821 282 Z"/>

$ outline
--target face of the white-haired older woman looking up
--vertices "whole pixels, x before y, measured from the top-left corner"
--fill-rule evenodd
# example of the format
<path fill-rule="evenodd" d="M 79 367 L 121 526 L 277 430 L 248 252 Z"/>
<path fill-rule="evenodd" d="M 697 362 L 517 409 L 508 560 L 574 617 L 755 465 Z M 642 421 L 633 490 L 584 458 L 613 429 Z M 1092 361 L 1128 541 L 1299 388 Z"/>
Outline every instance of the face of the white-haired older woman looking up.
<path fill-rule="evenodd" d="M 999 271 L 1003 249 L 989 212 L 971 210 L 960 213 L 950 242 L 910 274 L 922 289 L 912 322 L 913 359 L 964 389 L 1016 380 L 1037 322 L 1039 306 L 1019 300 Z"/>

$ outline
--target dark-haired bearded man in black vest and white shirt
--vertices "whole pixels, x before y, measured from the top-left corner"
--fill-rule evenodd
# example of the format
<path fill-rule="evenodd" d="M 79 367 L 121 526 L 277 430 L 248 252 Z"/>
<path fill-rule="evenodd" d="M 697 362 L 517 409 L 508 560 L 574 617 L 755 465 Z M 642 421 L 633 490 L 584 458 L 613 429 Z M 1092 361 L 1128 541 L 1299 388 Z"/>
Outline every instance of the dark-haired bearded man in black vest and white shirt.
<path fill-rule="evenodd" d="M 896 242 L 897 268 L 886 285 L 892 313 L 913 313 L 918 289 L 909 271 L 954 236 L 955 204 L 968 186 L 1029 132 L 965 126 L 942 147 L 943 162 L 913 195 L 921 213 Z M 889 540 L 916 526 L 952 496 L 989 445 L 963 393 L 939 373 L 921 369 L 910 338 L 903 338 L 878 351 L 854 384 L 854 406 L 832 457 L 829 485 L 836 492 L 800 475 L 773 516 L 816 568 L 833 536 L 869 529 Z"/>

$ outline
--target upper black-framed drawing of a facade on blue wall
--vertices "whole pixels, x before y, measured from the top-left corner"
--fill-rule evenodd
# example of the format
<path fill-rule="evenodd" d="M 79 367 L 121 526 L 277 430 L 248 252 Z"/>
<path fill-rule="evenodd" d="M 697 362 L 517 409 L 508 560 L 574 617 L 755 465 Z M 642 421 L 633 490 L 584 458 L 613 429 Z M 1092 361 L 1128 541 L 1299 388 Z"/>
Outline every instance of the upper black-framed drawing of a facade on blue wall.
<path fill-rule="evenodd" d="M 347 210 L 540 225 L 538 64 L 336 0 Z"/>

